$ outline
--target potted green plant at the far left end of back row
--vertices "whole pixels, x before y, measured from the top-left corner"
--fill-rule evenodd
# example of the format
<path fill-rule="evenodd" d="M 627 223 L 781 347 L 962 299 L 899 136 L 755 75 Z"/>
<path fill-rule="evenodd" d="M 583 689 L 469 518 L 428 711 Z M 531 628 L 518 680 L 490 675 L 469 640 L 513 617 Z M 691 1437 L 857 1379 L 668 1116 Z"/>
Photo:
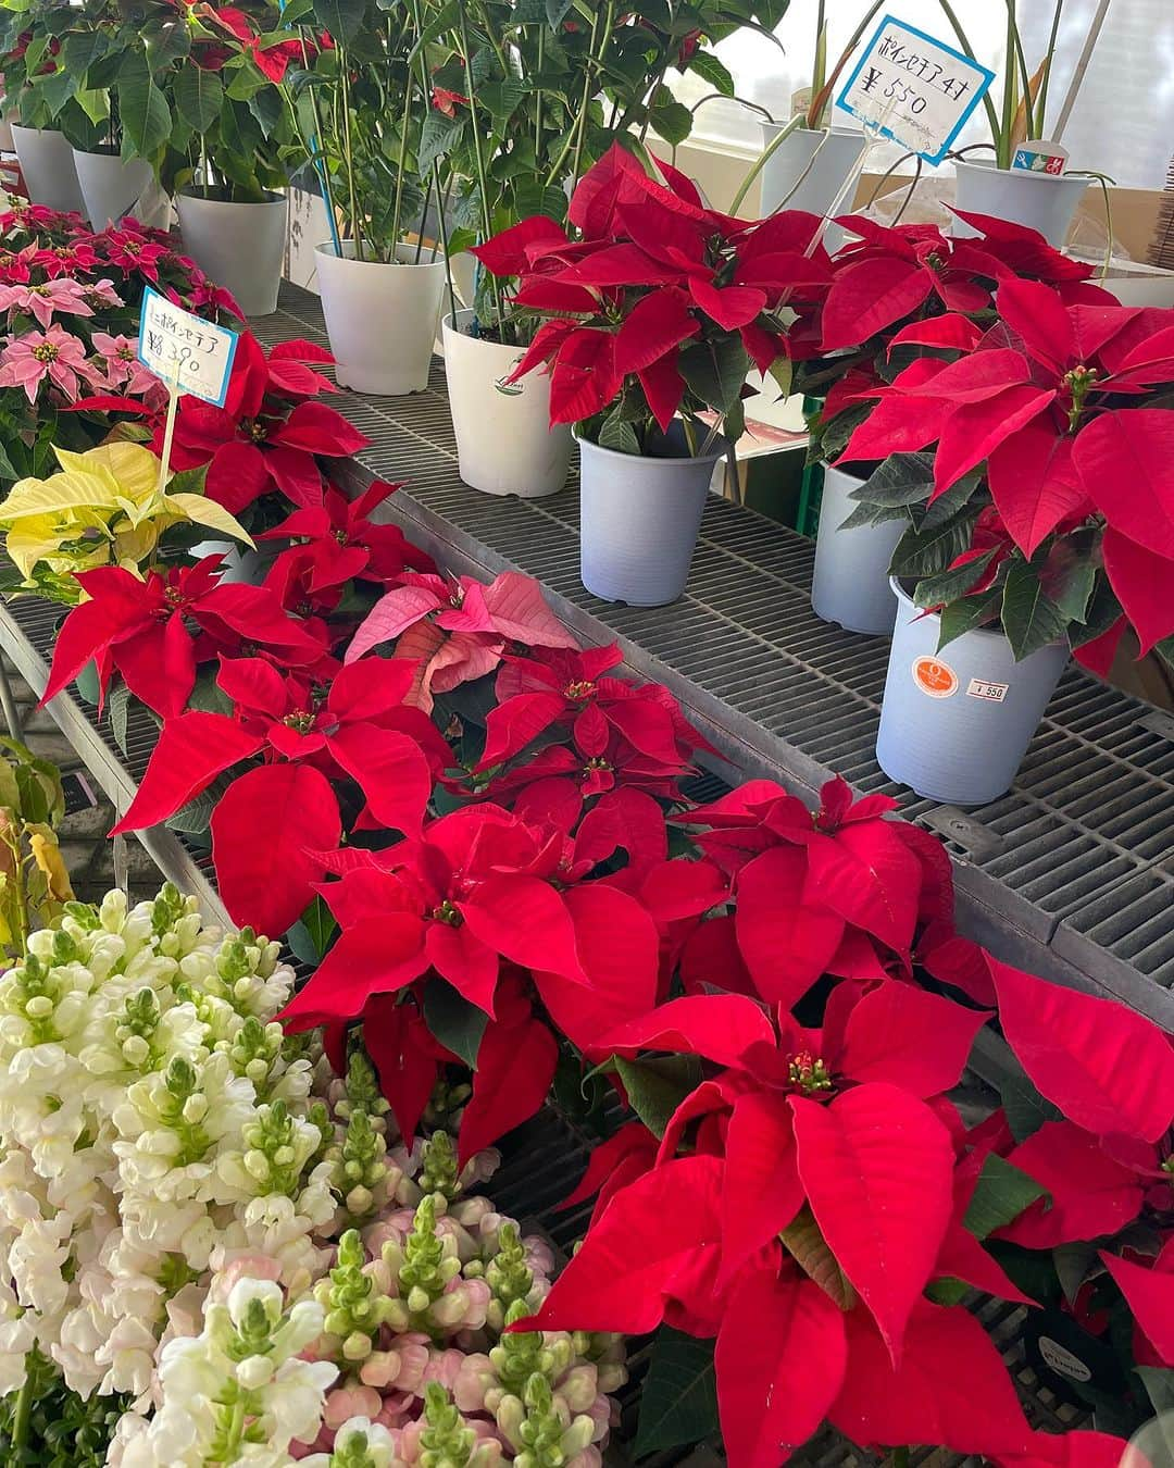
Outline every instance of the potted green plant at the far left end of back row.
<path fill-rule="evenodd" d="M 60 66 L 62 37 L 75 16 L 69 4 L 9 10 L 0 41 L 4 98 L 18 115 L 12 138 L 28 197 L 63 213 L 85 208 L 66 131 L 84 131 L 90 119 Z"/>

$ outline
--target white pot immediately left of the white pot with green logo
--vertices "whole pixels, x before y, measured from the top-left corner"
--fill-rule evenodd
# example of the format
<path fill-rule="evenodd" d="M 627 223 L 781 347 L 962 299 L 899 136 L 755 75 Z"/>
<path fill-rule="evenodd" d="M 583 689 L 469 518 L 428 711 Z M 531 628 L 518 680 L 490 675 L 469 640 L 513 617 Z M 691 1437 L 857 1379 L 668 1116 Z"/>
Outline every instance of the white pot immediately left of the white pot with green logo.
<path fill-rule="evenodd" d="M 387 264 L 355 260 L 354 241 L 343 254 L 317 245 L 321 314 L 338 361 L 338 380 L 355 392 L 399 398 L 429 386 L 445 261 L 415 264 L 415 245 L 396 247 Z"/>

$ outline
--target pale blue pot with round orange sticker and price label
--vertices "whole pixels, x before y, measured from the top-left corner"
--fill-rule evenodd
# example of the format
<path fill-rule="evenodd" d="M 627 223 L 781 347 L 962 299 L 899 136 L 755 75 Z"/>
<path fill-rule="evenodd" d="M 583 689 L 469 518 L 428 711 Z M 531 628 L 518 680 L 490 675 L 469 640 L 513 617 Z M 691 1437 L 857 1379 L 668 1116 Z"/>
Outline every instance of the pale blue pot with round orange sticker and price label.
<path fill-rule="evenodd" d="M 898 600 L 876 760 L 891 780 L 949 806 L 1011 788 L 1068 662 L 1067 642 L 1016 662 L 1007 637 L 976 627 L 938 652 L 939 618 Z"/>

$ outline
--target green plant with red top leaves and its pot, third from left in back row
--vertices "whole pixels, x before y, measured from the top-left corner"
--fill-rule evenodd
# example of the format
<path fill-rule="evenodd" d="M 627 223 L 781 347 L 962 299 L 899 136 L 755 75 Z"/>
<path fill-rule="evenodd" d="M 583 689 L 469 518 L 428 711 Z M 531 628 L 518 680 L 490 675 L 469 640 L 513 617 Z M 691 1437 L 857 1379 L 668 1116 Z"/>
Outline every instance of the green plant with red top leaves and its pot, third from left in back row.
<path fill-rule="evenodd" d="M 295 145 L 277 81 L 289 43 L 273 40 L 269 0 L 195 7 L 160 22 L 166 69 L 141 78 L 148 119 L 141 151 L 175 194 L 188 254 L 226 286 L 247 317 L 277 308 Z M 123 106 L 123 126 L 126 107 Z"/>

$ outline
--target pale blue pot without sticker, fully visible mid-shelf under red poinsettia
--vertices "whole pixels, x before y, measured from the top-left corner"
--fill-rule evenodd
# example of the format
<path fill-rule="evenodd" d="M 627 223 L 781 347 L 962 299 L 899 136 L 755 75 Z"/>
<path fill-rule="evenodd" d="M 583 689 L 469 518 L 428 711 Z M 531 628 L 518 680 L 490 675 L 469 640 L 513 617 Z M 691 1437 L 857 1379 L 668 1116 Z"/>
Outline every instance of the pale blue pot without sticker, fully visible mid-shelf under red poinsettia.
<path fill-rule="evenodd" d="M 675 602 L 688 581 L 709 484 L 725 443 L 719 440 L 704 458 L 618 454 L 587 439 L 580 439 L 580 452 L 583 584 L 605 602 Z"/>

